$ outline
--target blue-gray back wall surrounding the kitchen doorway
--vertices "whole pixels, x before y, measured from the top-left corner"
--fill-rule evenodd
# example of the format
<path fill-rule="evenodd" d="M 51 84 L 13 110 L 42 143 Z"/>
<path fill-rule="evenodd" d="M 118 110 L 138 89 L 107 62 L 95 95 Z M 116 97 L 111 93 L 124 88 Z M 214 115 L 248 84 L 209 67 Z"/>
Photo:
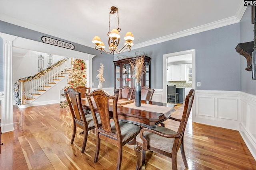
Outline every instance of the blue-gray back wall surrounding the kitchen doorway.
<path fill-rule="evenodd" d="M 151 88 L 163 88 L 163 55 L 196 49 L 197 90 L 240 90 L 239 23 L 140 48 L 151 60 Z M 135 53 L 138 49 L 132 50 Z M 126 52 L 123 55 L 131 55 Z"/>

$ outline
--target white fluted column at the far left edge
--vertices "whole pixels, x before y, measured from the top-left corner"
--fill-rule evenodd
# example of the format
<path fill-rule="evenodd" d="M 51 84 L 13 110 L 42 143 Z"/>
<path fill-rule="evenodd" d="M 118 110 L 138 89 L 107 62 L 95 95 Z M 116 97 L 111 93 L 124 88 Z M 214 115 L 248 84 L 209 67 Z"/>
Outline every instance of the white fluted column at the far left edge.
<path fill-rule="evenodd" d="M 4 57 L 4 110 L 1 113 L 2 132 L 14 131 L 13 127 L 13 81 L 12 81 L 12 41 L 16 36 L 0 33 L 3 39 Z"/>

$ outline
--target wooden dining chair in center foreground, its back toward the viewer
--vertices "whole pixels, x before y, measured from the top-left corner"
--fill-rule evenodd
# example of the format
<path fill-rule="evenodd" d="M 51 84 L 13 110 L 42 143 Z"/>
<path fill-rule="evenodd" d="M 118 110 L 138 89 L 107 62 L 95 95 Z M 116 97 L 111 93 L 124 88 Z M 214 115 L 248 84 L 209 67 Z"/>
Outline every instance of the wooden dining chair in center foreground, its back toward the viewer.
<path fill-rule="evenodd" d="M 120 170 L 122 162 L 122 147 L 126 143 L 134 139 L 136 135 L 138 135 L 138 133 L 140 133 L 140 127 L 132 123 L 118 121 L 117 95 L 111 96 L 103 90 L 94 90 L 92 93 L 86 95 L 96 125 L 97 140 L 94 162 L 96 163 L 98 161 L 100 140 L 102 139 L 118 147 L 118 159 L 116 169 Z M 92 98 L 95 102 L 94 105 L 92 103 Z M 109 112 L 109 100 L 113 100 L 113 104 L 110 106 L 113 108 L 112 112 Z M 100 115 L 102 127 L 100 127 L 98 119 L 96 119 L 96 113 Z M 114 121 L 110 121 L 110 113 L 112 114 Z"/>

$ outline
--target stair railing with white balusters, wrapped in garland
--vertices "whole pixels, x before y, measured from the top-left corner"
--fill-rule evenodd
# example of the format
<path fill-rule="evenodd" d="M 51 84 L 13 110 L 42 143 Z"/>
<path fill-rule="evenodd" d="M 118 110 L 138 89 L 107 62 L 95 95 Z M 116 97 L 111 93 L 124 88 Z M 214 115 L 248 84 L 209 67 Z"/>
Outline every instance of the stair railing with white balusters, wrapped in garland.
<path fill-rule="evenodd" d="M 34 76 L 18 80 L 14 89 L 16 105 L 25 104 L 24 99 L 33 99 L 33 95 L 40 95 L 40 91 L 46 91 L 45 88 L 55 84 L 54 80 L 60 80 L 60 77 L 68 74 L 68 70 L 71 69 L 71 60 L 70 58 L 62 59 Z"/>

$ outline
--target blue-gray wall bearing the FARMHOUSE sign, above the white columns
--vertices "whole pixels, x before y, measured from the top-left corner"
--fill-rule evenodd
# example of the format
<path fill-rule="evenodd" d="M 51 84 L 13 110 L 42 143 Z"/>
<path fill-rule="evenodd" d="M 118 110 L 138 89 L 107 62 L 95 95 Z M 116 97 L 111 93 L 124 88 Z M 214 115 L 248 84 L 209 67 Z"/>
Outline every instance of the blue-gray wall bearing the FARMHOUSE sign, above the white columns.
<path fill-rule="evenodd" d="M 92 55 L 96 55 L 93 60 L 92 60 L 92 82 L 94 82 L 94 86 L 92 88 L 97 88 L 98 86 L 98 79 L 96 78 L 98 72 L 97 70 L 100 68 L 100 63 L 102 62 L 104 64 L 104 78 L 106 81 L 104 82 L 103 87 L 113 87 L 114 85 L 114 56 L 113 55 L 108 55 L 108 54 L 100 54 L 99 51 L 96 51 L 94 48 L 86 47 L 84 45 L 80 45 L 77 43 L 73 43 L 71 41 L 67 41 L 58 37 L 54 37 L 52 35 L 47 35 L 44 33 L 40 33 L 38 31 L 34 31 L 31 29 L 27 29 L 24 27 L 20 27 L 17 25 L 13 25 L 4 21 L 0 21 L 0 32 L 10 34 L 10 35 L 15 35 L 18 37 L 23 37 L 26 39 L 31 39 L 34 41 L 41 41 L 42 36 L 48 36 L 51 38 L 55 38 L 61 41 L 65 41 L 68 43 L 72 43 L 75 46 L 75 51 L 80 51 Z M 1 88 L 3 89 L 4 83 L 3 83 L 3 64 L 1 63 L 3 61 L 3 42 L 2 38 L 0 38 L 0 91 Z M 111 74 L 110 74 L 111 73 Z M 2 90 L 3 91 L 3 90 Z"/>

